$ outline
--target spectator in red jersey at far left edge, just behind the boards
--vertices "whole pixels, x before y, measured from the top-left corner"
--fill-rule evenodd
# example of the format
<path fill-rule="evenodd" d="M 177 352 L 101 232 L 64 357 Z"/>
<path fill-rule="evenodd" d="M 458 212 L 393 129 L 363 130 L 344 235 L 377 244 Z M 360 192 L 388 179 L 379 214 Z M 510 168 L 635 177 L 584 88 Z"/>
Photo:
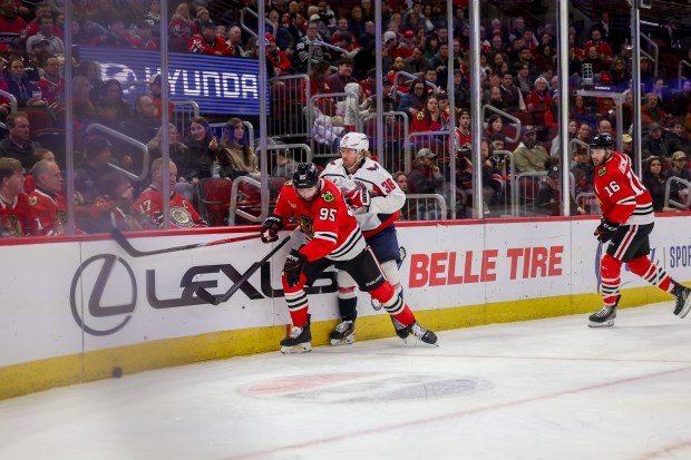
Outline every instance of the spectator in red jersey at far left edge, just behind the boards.
<path fill-rule="evenodd" d="M 14 158 L 0 158 L 0 237 L 30 235 L 36 231 L 29 197 L 23 193 L 25 168 Z"/>

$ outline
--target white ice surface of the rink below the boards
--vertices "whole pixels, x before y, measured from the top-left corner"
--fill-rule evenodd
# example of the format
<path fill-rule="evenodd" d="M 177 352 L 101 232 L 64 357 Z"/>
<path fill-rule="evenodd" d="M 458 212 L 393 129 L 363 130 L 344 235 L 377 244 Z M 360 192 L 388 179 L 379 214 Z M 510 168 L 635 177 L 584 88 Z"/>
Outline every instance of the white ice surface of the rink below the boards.
<path fill-rule="evenodd" d="M 672 303 L 279 352 L 0 402 L 0 459 L 691 459 Z"/>

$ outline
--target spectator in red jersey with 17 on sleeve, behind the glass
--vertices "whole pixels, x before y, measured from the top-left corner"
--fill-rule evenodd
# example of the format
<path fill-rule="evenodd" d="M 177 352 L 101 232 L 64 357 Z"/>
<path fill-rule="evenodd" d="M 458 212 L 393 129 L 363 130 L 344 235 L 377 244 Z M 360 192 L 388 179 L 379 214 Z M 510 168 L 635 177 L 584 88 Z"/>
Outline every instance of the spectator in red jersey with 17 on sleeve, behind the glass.
<path fill-rule="evenodd" d="M 152 184 L 133 203 L 132 211 L 139 215 L 143 222 L 156 228 L 163 227 L 163 182 L 168 180 L 171 189 L 171 224 L 179 228 L 206 227 L 192 203 L 175 192 L 177 183 L 177 166 L 171 162 L 168 177 L 163 176 L 163 158 L 156 158 L 152 164 Z"/>

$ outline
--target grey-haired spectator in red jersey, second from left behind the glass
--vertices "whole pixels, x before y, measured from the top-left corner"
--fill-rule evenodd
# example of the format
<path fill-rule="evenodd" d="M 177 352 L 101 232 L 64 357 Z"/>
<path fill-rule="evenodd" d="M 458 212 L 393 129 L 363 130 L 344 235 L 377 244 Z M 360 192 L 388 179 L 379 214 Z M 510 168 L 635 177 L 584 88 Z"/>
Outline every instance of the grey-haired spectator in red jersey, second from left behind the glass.
<path fill-rule="evenodd" d="M 67 200 L 60 194 L 64 179 L 55 162 L 41 159 L 31 168 L 36 189 L 29 194 L 36 235 L 64 235 L 67 224 Z"/>

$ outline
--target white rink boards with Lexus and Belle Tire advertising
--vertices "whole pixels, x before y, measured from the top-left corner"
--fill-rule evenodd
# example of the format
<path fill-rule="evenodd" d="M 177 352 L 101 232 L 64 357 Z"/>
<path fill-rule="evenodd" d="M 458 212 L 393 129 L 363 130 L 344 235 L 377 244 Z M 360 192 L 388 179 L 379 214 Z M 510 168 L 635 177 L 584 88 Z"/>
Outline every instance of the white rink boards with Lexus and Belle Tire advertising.
<path fill-rule="evenodd" d="M 406 249 L 401 284 L 413 311 L 595 293 L 596 221 L 554 219 L 492 225 L 399 227 Z M 240 235 L 240 234 L 239 234 Z M 658 218 L 651 257 L 675 280 L 691 281 L 691 219 Z M 217 234 L 132 238 L 140 251 Z M 0 247 L 3 266 L 0 366 L 163 339 L 290 323 L 280 273 L 295 236 L 228 302 L 214 306 L 195 294 L 228 292 L 270 247 L 257 239 L 135 257 L 114 241 Z M 622 288 L 646 283 L 627 271 Z M 38 288 L 37 288 L 38 286 Z M 309 287 L 313 321 L 337 320 L 335 272 Z M 359 316 L 385 314 L 358 294 Z M 670 297 L 671 300 L 671 297 Z M 594 305 L 598 307 L 598 305 Z"/>

